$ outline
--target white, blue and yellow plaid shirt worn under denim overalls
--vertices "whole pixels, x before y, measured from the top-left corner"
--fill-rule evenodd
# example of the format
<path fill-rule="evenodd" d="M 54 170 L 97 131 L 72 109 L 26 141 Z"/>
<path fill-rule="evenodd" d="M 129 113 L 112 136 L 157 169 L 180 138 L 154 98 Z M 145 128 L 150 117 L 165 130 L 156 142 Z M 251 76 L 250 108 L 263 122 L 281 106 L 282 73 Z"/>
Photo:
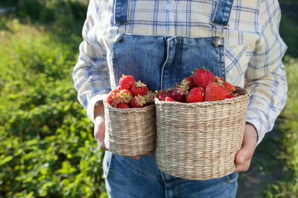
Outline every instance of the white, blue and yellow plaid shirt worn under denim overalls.
<path fill-rule="evenodd" d="M 111 51 L 118 26 L 113 4 L 90 0 L 74 67 L 78 100 L 91 121 L 95 103 L 116 87 Z M 216 5 L 217 0 L 129 0 L 126 33 L 210 37 Z M 278 0 L 234 0 L 224 36 L 226 81 L 251 93 L 247 121 L 256 127 L 258 143 L 272 130 L 287 100 L 282 62 L 287 46 L 279 35 L 280 19 Z"/>

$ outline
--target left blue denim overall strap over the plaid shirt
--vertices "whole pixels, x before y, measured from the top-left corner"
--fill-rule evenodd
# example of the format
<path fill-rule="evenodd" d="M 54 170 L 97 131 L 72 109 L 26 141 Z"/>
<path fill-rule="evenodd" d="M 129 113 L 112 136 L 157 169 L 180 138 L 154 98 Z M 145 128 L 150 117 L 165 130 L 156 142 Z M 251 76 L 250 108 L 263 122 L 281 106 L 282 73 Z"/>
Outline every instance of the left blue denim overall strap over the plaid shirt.
<path fill-rule="evenodd" d="M 128 24 L 128 0 L 115 0 L 114 23 L 116 25 Z"/>

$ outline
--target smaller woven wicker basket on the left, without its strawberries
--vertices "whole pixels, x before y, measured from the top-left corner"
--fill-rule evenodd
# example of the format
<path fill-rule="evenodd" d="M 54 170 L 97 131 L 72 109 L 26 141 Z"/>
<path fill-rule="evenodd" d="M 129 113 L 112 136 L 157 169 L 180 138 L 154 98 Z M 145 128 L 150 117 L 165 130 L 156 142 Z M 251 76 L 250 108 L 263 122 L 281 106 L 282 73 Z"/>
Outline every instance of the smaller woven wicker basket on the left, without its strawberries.
<path fill-rule="evenodd" d="M 144 108 L 119 109 L 104 101 L 104 110 L 104 143 L 111 152 L 134 156 L 155 148 L 155 104 Z"/>

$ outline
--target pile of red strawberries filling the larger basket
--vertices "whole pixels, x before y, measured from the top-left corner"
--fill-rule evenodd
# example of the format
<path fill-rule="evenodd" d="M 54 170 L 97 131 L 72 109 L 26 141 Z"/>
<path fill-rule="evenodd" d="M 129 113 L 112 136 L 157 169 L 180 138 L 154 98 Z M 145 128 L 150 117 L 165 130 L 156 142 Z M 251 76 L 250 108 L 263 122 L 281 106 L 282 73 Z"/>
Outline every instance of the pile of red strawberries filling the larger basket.
<path fill-rule="evenodd" d="M 203 68 L 192 72 L 193 76 L 186 77 L 174 89 L 156 91 L 156 97 L 163 101 L 203 102 L 235 98 L 235 87 L 211 71 Z"/>

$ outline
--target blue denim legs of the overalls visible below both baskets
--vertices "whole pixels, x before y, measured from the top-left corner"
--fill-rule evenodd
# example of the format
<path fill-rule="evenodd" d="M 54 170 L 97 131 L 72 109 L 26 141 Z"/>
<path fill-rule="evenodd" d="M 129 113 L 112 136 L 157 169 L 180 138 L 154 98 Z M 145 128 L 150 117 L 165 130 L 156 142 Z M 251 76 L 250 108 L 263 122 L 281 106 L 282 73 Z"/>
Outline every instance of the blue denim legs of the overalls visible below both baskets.
<path fill-rule="evenodd" d="M 235 198 L 238 173 L 194 181 L 160 171 L 152 156 L 140 160 L 105 152 L 104 177 L 110 198 Z"/>

